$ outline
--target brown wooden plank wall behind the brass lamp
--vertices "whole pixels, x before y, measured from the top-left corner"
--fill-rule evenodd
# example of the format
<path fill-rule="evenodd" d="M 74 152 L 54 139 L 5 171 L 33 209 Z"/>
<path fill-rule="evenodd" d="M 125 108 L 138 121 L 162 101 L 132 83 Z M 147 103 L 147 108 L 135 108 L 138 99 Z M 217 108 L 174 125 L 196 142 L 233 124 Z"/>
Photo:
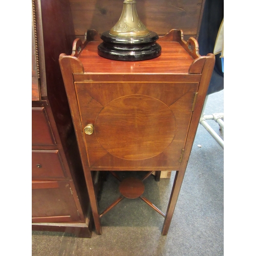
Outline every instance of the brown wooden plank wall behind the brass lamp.
<path fill-rule="evenodd" d="M 88 29 L 99 33 L 110 30 L 118 21 L 122 0 L 70 0 L 75 33 Z M 138 0 L 137 13 L 143 24 L 159 35 L 170 29 L 182 29 L 185 35 L 197 37 L 204 0 Z"/>

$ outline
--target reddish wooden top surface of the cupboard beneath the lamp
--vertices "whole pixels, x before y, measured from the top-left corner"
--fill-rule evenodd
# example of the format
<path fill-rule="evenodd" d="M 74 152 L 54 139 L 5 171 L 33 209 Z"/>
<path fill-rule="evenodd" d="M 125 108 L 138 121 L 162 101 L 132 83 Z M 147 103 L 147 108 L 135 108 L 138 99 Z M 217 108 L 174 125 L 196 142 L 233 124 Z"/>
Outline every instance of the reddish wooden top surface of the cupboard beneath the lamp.
<path fill-rule="evenodd" d="M 160 41 L 162 54 L 150 60 L 120 61 L 98 55 L 100 41 L 91 41 L 79 55 L 84 72 L 89 73 L 150 73 L 187 74 L 193 57 L 174 41 Z"/>

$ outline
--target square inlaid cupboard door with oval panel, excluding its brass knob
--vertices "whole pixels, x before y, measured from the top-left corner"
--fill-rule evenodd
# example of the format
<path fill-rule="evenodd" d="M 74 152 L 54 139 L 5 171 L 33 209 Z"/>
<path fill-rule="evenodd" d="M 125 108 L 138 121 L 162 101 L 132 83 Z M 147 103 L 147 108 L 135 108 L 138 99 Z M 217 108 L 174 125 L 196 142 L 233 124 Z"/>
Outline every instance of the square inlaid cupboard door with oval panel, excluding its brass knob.
<path fill-rule="evenodd" d="M 198 83 L 76 82 L 90 167 L 174 167 Z"/>

